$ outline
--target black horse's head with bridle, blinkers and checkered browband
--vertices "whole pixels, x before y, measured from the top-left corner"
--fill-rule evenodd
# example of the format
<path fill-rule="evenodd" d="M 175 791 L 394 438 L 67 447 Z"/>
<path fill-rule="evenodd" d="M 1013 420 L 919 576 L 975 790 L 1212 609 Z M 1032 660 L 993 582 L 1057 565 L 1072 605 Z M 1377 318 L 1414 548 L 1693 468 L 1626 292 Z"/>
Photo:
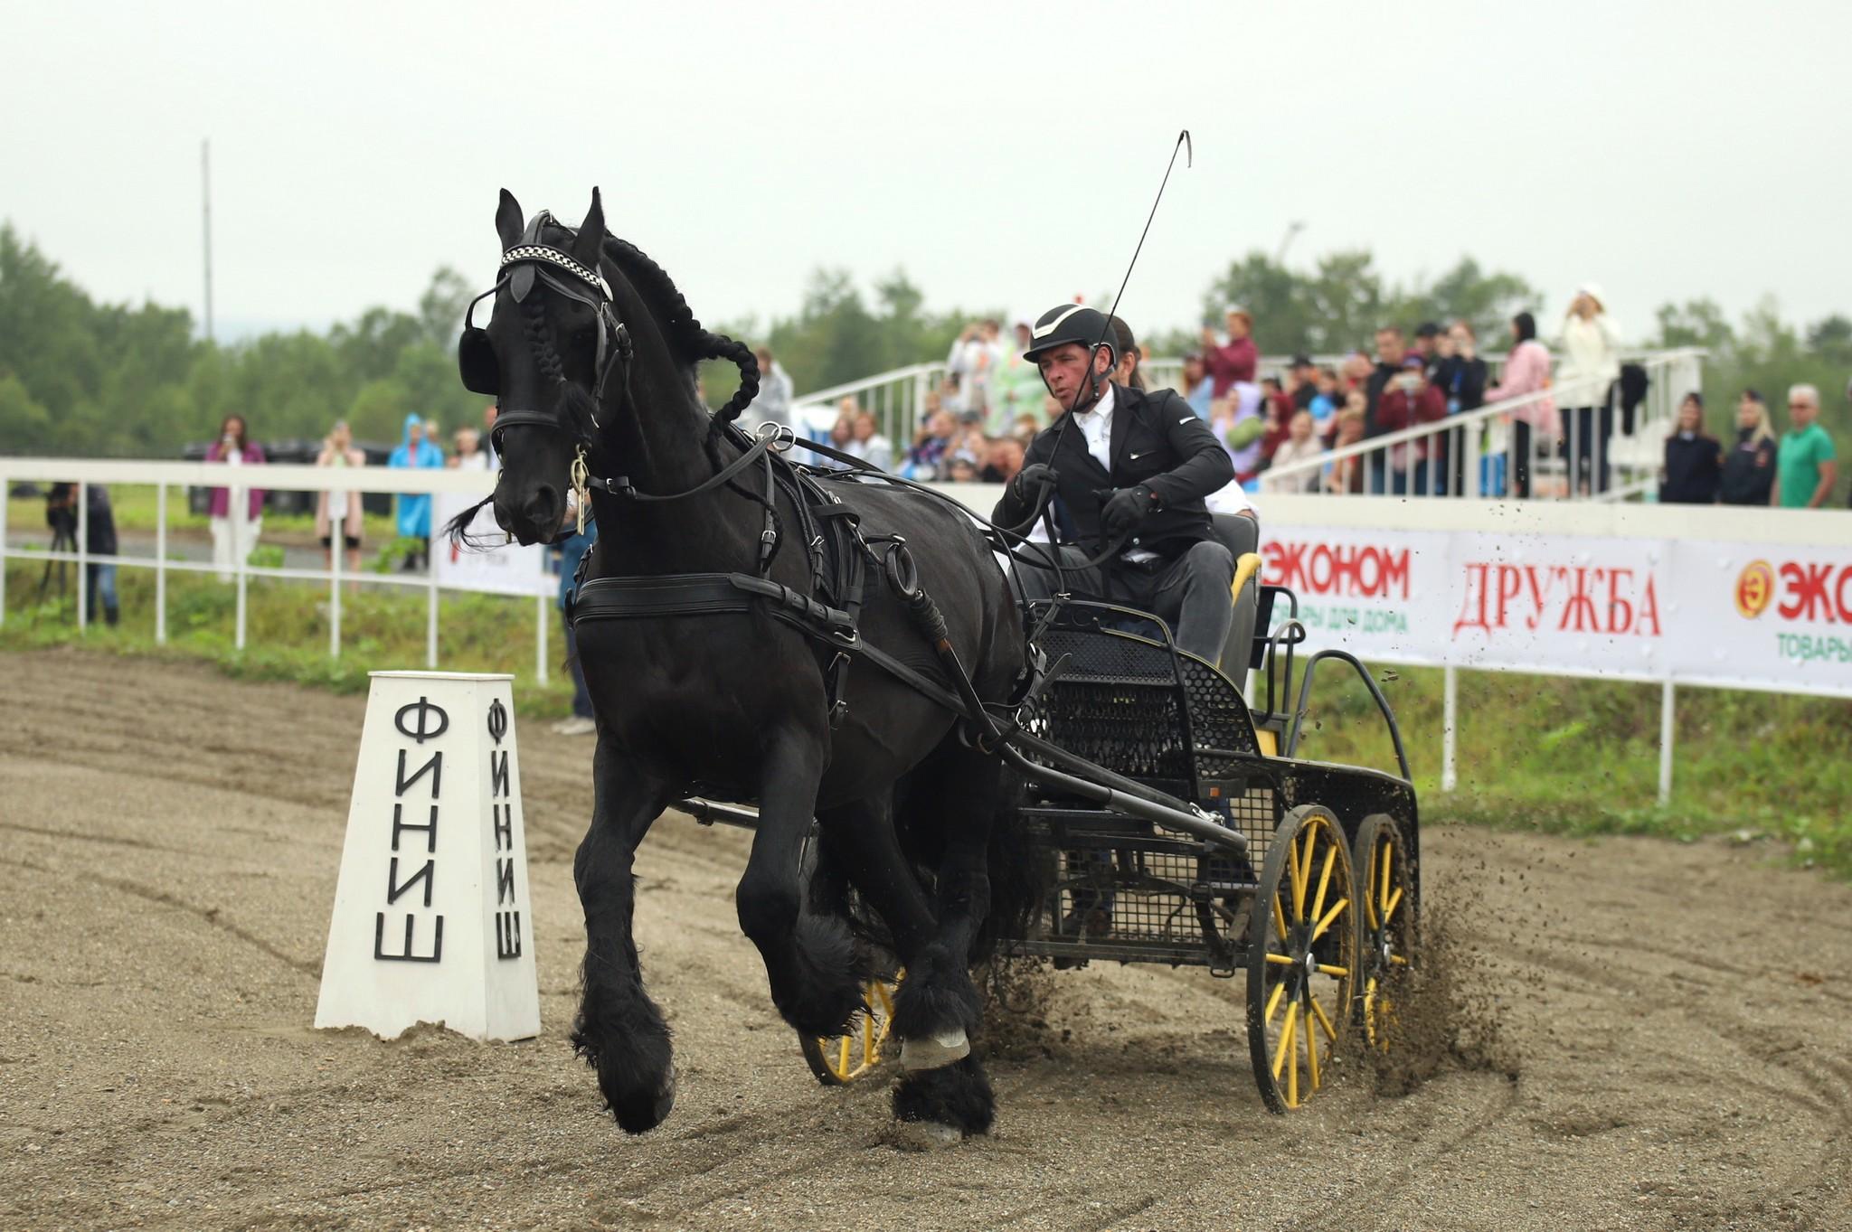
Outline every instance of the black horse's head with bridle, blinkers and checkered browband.
<path fill-rule="evenodd" d="M 494 215 L 502 265 L 487 327 L 474 309 L 463 320 L 457 366 L 463 385 L 500 407 L 491 442 L 502 459 L 494 520 L 522 544 L 552 542 L 567 512 L 572 466 L 598 440 L 606 383 L 622 379 L 630 333 L 619 322 L 600 272 L 604 205 L 574 233 L 541 211 L 522 222 L 504 189 Z"/>

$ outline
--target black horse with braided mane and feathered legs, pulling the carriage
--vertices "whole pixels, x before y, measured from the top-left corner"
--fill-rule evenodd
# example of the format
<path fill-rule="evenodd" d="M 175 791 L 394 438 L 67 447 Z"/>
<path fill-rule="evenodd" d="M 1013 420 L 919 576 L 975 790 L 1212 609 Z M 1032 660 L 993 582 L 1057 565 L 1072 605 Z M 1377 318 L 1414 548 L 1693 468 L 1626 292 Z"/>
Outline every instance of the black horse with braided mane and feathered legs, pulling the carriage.
<path fill-rule="evenodd" d="M 585 490 L 589 477 L 598 544 L 582 594 L 594 594 L 598 579 L 619 579 L 606 585 L 617 588 L 757 572 L 791 594 L 830 599 L 817 594 L 819 540 L 830 536 L 804 542 L 796 529 L 846 512 L 870 542 L 904 535 L 978 696 L 1000 703 L 1019 688 L 1020 614 L 969 518 L 919 492 L 854 481 L 828 485 L 839 505 L 806 511 L 789 483 L 761 490 L 761 464 L 776 457 L 763 450 L 715 483 L 757 440 L 730 422 L 757 388 L 752 353 L 702 329 L 669 276 L 606 233 L 596 191 L 576 231 L 546 213 L 524 224 L 504 191 L 496 231 L 494 311 L 487 331 L 465 331 L 459 361 L 465 383 L 502 407 L 493 501 L 504 531 L 522 544 L 554 540 L 569 490 Z M 715 357 L 739 364 L 743 387 L 709 414 L 694 376 Z M 793 477 L 783 459 L 776 466 Z M 648 499 L 678 494 L 689 496 Z M 770 555 L 763 570 L 761 553 Z M 863 1012 L 872 971 L 859 932 L 806 892 L 800 864 L 815 818 L 820 858 L 880 914 L 906 964 L 893 1023 L 906 1069 L 895 1115 L 983 1132 L 995 1104 L 970 1053 L 980 1003 L 969 960 L 993 906 L 989 844 L 1009 816 L 1011 781 L 961 738 L 941 701 L 854 653 L 845 683 L 843 646 L 774 618 L 770 601 L 743 607 L 622 620 L 580 612 L 598 747 L 596 803 L 574 860 L 587 934 L 574 1045 L 622 1128 L 643 1132 L 669 1115 L 669 1029 L 644 993 L 632 940 L 633 853 L 685 794 L 750 801 L 759 825 L 739 923 L 765 958 L 780 1014 L 800 1032 L 841 1034 Z M 941 659 L 880 570 L 870 568 L 857 623 L 865 644 L 945 686 Z"/>

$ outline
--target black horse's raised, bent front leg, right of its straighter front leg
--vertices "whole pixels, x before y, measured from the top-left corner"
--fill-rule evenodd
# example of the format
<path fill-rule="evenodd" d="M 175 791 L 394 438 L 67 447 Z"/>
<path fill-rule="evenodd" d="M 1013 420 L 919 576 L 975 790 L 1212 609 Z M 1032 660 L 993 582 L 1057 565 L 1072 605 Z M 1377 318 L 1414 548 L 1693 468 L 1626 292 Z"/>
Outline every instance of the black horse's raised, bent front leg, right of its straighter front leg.
<path fill-rule="evenodd" d="M 863 1008 L 867 964 L 848 925 L 806 910 L 802 855 L 824 764 L 822 733 L 791 731 L 769 745 L 759 829 L 739 879 L 739 927 L 765 958 L 772 1004 L 800 1032 L 839 1036 Z"/>

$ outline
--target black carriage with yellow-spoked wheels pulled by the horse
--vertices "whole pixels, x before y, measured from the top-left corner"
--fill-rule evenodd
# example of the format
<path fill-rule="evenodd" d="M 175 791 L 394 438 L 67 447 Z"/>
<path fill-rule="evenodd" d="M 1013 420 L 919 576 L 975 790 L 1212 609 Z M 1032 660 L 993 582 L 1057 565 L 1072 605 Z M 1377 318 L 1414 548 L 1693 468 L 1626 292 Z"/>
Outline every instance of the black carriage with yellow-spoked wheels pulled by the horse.
<path fill-rule="evenodd" d="M 1259 583 L 1252 524 L 1219 516 L 1217 533 L 1239 553 L 1222 664 L 1178 649 L 1145 612 L 1080 601 L 1032 612 L 1046 618 L 1037 644 L 1061 664 L 1019 755 L 1030 788 L 1017 819 L 1045 890 L 1000 953 L 1243 975 L 1254 1077 L 1285 1112 L 1324 1086 L 1346 1030 L 1391 1047 L 1417 943 L 1419 819 L 1395 714 L 1369 670 L 1343 649 L 1300 655 L 1298 599 Z M 1363 681 L 1396 773 L 1296 757 L 1328 660 Z M 1259 705 L 1237 686 L 1250 671 Z M 1102 779 L 1119 781 L 1104 803 Z M 704 799 L 682 807 L 704 823 L 754 821 Z M 850 1034 L 800 1036 L 820 1082 L 882 1064 L 893 993 L 895 980 L 870 980 Z"/>

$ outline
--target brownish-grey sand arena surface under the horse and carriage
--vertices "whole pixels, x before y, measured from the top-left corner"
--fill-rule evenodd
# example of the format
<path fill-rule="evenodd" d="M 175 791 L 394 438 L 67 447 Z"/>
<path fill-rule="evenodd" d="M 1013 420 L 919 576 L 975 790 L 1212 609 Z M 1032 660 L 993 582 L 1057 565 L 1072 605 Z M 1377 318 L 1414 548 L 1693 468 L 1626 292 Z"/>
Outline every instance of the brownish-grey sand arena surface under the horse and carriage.
<path fill-rule="evenodd" d="M 1852 888 L 1765 849 L 1424 831 L 1489 1056 L 1254 1091 L 1241 980 L 1037 977 L 998 1128 L 896 1149 L 809 1077 L 739 934 L 750 838 L 663 818 L 637 932 L 680 1099 L 600 1114 L 565 1034 L 589 740 L 522 740 L 543 1036 L 315 1032 L 363 701 L 6 657 L 0 1228 L 1852 1228 Z M 1511 1077 L 1515 1073 L 1515 1077 Z"/>

